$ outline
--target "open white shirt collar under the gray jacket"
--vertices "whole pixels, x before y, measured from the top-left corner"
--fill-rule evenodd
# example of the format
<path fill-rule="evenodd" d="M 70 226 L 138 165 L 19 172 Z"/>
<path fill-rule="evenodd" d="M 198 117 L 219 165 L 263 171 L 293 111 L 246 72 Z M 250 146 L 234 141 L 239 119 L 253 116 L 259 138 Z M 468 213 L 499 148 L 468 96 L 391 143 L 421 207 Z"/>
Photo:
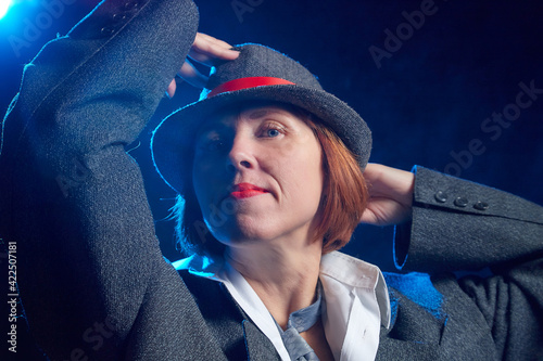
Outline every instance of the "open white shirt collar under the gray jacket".
<path fill-rule="evenodd" d="M 269 338 L 285 361 L 290 361 L 277 325 L 247 280 L 225 259 L 192 256 L 174 263 L 177 270 L 223 282 L 239 306 Z M 390 325 L 387 285 L 377 266 L 339 252 L 323 256 L 323 324 L 333 358 L 375 360 L 380 326 Z"/>

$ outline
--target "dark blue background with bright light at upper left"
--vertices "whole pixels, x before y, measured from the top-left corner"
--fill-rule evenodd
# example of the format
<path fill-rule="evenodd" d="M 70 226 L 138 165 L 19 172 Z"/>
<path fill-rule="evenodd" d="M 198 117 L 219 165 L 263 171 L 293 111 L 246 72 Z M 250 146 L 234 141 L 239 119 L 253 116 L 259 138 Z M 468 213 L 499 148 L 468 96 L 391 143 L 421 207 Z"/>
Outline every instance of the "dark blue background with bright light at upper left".
<path fill-rule="evenodd" d="M 49 23 L 50 12 L 39 1 L 21 1 L 0 20 L 2 113 L 17 91 L 24 64 L 58 33 L 66 34 L 98 2 L 59 1 L 62 7 L 54 17 L 49 16 Z M 532 103 L 512 113 L 509 118 L 515 120 L 505 123 L 506 127 L 493 124 L 498 128 L 481 129 L 493 113 L 515 109 L 512 104 L 521 91 L 520 82 L 543 89 L 541 2 L 195 2 L 201 31 L 232 44 L 261 42 L 278 49 L 308 67 L 325 89 L 353 106 L 374 132 L 371 162 L 402 169 L 424 165 L 543 204 L 543 94 L 535 100 L 522 95 L 522 102 Z M 418 28 L 406 27 L 405 14 L 421 7 L 429 9 L 424 23 L 419 20 Z M 30 34 L 33 25 L 41 28 Z M 396 34 L 399 26 L 404 31 L 401 43 L 389 48 L 389 57 L 377 66 L 370 47 L 384 51 L 386 31 Z M 18 48 L 13 46 L 17 40 Z M 142 167 L 161 246 L 171 259 L 180 257 L 174 247 L 173 222 L 165 220 L 174 194 L 149 160 L 149 132 L 163 116 L 198 96 L 187 85 L 178 92 L 174 100 L 162 102 L 139 147 L 131 152 Z M 477 154 L 468 156 L 473 140 L 479 140 Z M 361 225 L 346 250 L 391 270 L 392 232 L 390 227 Z"/>

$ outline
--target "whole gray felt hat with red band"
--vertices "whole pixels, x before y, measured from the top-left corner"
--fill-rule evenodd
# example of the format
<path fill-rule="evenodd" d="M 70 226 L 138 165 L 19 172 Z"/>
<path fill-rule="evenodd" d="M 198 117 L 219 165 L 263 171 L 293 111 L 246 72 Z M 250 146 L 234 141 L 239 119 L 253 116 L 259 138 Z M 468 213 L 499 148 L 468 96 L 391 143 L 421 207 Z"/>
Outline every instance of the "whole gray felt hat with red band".
<path fill-rule="evenodd" d="M 181 195 L 190 184 L 195 132 L 225 105 L 273 101 L 299 106 L 333 130 L 355 154 L 362 169 L 371 150 L 371 132 L 362 117 L 320 87 L 300 63 L 270 48 L 243 44 L 235 61 L 212 68 L 200 100 L 165 118 L 154 130 L 151 149 L 159 173 Z"/>

